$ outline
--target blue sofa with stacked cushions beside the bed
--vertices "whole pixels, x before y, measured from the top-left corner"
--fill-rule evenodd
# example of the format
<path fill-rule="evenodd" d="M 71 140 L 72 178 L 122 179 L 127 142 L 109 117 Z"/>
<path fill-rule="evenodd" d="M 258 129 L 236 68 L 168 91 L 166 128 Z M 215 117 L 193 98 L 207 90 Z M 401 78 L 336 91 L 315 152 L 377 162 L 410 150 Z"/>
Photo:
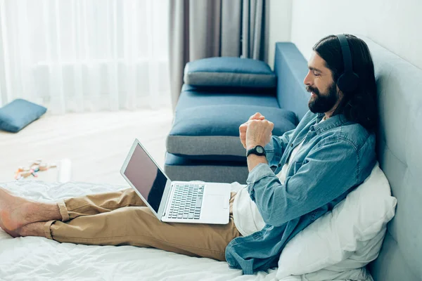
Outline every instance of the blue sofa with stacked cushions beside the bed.
<path fill-rule="evenodd" d="M 302 81 L 307 61 L 292 43 L 276 44 L 274 72 L 245 58 L 188 63 L 167 137 L 165 172 L 177 181 L 245 183 L 245 148 L 238 127 L 255 112 L 274 122 L 275 135 L 294 129 L 307 112 Z"/>

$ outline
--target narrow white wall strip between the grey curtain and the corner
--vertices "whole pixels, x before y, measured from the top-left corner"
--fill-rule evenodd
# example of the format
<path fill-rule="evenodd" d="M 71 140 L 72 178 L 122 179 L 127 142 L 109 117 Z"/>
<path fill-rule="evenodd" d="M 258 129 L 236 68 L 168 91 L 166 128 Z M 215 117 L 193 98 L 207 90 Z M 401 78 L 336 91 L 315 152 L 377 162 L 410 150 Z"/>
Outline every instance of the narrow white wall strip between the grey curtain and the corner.
<path fill-rule="evenodd" d="M 268 64 L 274 67 L 274 45 L 290 41 L 292 0 L 269 0 Z"/>

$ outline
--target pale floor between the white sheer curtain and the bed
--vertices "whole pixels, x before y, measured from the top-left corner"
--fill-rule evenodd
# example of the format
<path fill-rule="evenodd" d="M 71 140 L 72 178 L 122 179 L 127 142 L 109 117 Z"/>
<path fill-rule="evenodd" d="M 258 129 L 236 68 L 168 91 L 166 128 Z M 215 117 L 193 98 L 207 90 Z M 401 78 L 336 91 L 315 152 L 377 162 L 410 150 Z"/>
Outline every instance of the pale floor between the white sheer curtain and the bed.
<path fill-rule="evenodd" d="M 14 181 L 16 169 L 28 166 L 32 160 L 58 164 L 60 159 L 68 158 L 72 181 L 127 185 L 120 175 L 120 167 L 134 138 L 141 141 L 162 167 L 165 138 L 171 125 L 170 108 L 47 114 L 19 133 L 0 131 L 0 182 Z M 50 174 L 51 178 L 55 171 L 39 172 L 39 180 L 46 178 L 41 173 Z"/>

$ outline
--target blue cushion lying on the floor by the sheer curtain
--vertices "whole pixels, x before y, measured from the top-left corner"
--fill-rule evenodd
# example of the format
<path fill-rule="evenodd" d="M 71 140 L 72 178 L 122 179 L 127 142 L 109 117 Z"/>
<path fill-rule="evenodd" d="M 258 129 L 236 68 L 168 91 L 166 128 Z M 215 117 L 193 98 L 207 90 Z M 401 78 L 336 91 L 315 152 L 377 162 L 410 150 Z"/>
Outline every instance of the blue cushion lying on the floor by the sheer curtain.
<path fill-rule="evenodd" d="M 44 115 L 46 107 L 16 99 L 0 108 L 0 130 L 17 133 Z"/>

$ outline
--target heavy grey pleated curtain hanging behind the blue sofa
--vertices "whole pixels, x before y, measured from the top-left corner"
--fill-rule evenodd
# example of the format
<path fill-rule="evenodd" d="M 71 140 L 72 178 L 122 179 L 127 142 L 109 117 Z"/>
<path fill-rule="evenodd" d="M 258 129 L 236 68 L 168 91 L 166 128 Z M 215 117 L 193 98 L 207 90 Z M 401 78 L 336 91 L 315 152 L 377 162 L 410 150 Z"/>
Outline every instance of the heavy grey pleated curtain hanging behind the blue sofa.
<path fill-rule="evenodd" d="M 173 109 L 183 84 L 184 65 L 214 56 L 267 61 L 268 1 L 170 1 L 170 91 Z"/>

